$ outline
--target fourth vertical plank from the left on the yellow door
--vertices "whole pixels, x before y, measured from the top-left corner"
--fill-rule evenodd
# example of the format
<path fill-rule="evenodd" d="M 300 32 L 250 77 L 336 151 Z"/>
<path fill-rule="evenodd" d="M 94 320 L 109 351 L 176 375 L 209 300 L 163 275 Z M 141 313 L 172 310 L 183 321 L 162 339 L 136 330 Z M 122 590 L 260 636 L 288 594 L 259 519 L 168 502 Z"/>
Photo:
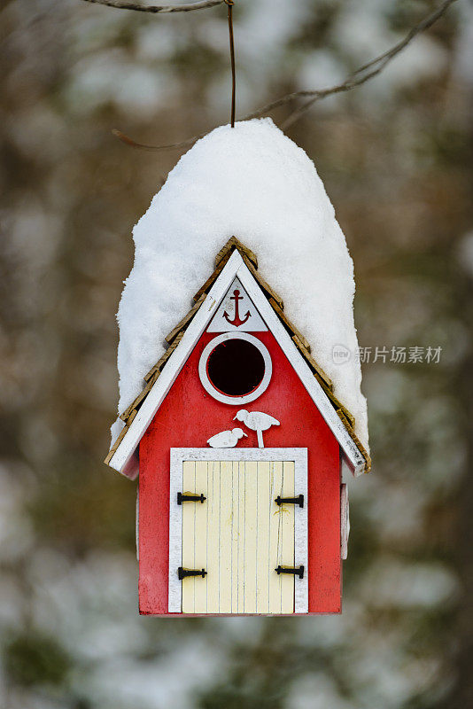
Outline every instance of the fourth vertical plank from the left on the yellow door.
<path fill-rule="evenodd" d="M 233 464 L 221 461 L 220 464 L 220 603 L 219 612 L 231 613 L 231 551 L 233 524 Z"/>

